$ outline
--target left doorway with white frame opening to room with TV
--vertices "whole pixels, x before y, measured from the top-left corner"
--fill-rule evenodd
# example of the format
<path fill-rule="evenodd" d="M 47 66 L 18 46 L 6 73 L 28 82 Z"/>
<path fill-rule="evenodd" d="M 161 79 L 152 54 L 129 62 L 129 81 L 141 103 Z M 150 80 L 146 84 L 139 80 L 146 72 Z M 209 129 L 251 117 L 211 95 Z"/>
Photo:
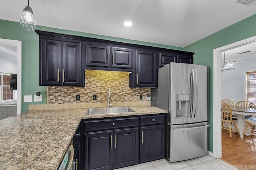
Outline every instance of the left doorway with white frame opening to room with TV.
<path fill-rule="evenodd" d="M 21 113 L 21 41 L 0 38 L 0 60 L 0 119 L 4 119 Z"/>

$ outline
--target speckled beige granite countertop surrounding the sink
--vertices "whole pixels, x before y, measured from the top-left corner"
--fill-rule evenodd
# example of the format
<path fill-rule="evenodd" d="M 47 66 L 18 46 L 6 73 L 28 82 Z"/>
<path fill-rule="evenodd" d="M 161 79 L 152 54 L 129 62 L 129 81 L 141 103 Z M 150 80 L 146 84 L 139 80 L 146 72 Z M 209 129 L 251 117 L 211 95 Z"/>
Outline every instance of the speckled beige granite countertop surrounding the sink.
<path fill-rule="evenodd" d="M 87 109 L 28 111 L 0 121 L 0 169 L 54 170 L 81 119 L 167 113 L 152 106 L 124 114 L 85 115 Z"/>

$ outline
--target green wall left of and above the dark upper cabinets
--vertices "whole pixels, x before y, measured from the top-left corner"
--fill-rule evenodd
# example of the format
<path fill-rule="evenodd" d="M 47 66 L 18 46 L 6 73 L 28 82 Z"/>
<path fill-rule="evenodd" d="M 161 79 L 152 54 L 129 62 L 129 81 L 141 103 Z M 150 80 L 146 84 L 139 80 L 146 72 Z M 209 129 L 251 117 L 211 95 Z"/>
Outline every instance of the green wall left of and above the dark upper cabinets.
<path fill-rule="evenodd" d="M 140 42 L 140 41 L 127 40 L 122 38 L 114 38 L 114 37 L 101 36 L 96 34 L 74 32 L 69 30 L 61 30 L 61 29 L 49 28 L 49 27 L 43 27 L 43 26 L 37 26 L 36 29 L 48 31 L 48 32 L 56 32 L 56 33 L 62 33 L 62 34 L 70 34 L 70 35 L 76 35 L 76 36 L 112 40 L 117 42 L 133 43 L 133 44 L 148 45 L 153 47 L 182 50 L 182 48 L 180 47 L 174 47 L 169 45 Z M 46 104 L 47 103 L 46 87 L 38 86 L 38 80 L 39 80 L 38 35 L 35 32 L 29 32 L 27 30 L 24 30 L 23 28 L 20 27 L 20 23 L 18 22 L 0 20 L 0 38 L 22 41 L 22 112 L 28 111 L 28 105 Z M 41 94 L 43 95 L 43 101 L 24 103 L 23 96 L 34 95 L 35 90 L 41 91 Z"/>

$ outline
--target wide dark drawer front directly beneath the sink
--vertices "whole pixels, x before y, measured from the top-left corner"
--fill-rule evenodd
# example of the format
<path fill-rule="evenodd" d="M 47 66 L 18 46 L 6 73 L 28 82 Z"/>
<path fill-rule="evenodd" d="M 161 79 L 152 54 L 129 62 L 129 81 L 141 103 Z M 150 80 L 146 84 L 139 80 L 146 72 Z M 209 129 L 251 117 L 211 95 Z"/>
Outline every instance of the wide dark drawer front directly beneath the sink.
<path fill-rule="evenodd" d="M 139 125 L 138 117 L 84 121 L 84 131 L 102 130 L 124 127 L 136 127 Z"/>

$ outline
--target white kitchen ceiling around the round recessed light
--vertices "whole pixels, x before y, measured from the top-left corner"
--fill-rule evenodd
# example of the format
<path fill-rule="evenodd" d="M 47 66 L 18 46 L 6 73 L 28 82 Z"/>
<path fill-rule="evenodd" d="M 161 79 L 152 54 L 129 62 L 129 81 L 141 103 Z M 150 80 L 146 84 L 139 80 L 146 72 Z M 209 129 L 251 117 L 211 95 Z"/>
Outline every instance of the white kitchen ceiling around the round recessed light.
<path fill-rule="evenodd" d="M 27 0 L 1 0 L 0 19 L 19 22 Z M 256 13 L 256 0 L 30 0 L 36 24 L 185 47 Z M 125 27 L 124 21 L 133 25 Z"/>

